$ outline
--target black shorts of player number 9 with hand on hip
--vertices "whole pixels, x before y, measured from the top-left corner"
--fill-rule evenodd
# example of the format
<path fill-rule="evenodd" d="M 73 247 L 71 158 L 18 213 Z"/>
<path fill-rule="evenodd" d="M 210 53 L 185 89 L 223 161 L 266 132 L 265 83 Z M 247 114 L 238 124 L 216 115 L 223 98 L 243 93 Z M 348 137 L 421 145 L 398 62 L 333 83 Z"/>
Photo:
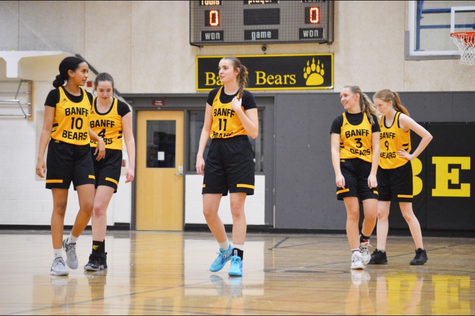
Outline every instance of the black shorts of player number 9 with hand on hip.
<path fill-rule="evenodd" d="M 394 169 L 378 167 L 377 173 L 380 201 L 412 202 L 413 176 L 411 161 Z"/>

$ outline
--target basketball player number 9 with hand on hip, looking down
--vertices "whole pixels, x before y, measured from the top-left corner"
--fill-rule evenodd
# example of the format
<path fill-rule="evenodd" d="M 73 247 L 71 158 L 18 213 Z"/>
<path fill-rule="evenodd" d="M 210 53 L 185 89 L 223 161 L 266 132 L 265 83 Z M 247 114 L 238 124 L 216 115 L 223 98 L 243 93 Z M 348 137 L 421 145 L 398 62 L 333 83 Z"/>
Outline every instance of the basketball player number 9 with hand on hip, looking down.
<path fill-rule="evenodd" d="M 378 168 L 378 247 L 371 256 L 370 264 L 386 264 L 386 237 L 391 199 L 397 200 L 402 215 L 409 225 L 416 243 L 416 256 L 411 265 L 427 262 L 427 253 L 422 243 L 421 225 L 412 209 L 413 175 L 410 160 L 417 158 L 432 140 L 432 135 L 409 117 L 409 112 L 401 104 L 399 95 L 389 89 L 376 92 L 373 97 L 376 107 L 383 115 L 380 121 L 381 155 Z M 411 154 L 413 130 L 422 137 L 419 146 Z"/>

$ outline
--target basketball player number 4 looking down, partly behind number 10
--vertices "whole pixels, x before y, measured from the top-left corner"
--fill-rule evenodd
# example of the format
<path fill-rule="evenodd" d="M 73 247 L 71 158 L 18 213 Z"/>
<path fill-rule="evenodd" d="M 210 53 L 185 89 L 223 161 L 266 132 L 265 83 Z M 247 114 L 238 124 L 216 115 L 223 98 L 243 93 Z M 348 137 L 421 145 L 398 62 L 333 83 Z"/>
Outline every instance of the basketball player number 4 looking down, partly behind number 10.
<path fill-rule="evenodd" d="M 117 192 L 122 167 L 122 136 L 124 136 L 129 167 L 125 183 L 134 181 L 135 140 L 132 133 L 132 114 L 129 106 L 113 97 L 114 79 L 107 73 L 97 75 L 94 81 L 97 97 L 89 119 L 91 129 L 102 139 L 107 149 L 105 158 L 94 161 L 95 198 L 93 212 L 93 248 L 87 271 L 107 269 L 105 252 L 105 231 L 107 228 L 107 207 L 112 194 Z M 91 155 L 94 156 L 96 142 L 91 141 Z"/>

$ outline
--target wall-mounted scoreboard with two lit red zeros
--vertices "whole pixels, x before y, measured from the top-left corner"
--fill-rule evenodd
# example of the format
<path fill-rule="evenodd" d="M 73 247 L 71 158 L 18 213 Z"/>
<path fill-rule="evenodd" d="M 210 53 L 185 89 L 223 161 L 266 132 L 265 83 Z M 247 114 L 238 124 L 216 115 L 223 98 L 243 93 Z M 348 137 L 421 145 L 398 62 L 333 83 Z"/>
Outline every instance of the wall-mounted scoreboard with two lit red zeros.
<path fill-rule="evenodd" d="M 333 41 L 333 1 L 190 1 L 190 44 Z"/>

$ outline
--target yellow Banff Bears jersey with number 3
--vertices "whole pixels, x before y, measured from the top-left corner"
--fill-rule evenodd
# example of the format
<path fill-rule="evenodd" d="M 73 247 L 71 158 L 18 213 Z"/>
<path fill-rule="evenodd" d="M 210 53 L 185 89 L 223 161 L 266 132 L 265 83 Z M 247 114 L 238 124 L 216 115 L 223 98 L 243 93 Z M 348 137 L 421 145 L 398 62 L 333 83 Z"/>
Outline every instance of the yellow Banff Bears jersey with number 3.
<path fill-rule="evenodd" d="M 360 158 L 371 162 L 372 125 L 363 112 L 363 121 L 359 125 L 351 125 L 343 113 L 343 125 L 340 129 L 340 158 Z"/>

